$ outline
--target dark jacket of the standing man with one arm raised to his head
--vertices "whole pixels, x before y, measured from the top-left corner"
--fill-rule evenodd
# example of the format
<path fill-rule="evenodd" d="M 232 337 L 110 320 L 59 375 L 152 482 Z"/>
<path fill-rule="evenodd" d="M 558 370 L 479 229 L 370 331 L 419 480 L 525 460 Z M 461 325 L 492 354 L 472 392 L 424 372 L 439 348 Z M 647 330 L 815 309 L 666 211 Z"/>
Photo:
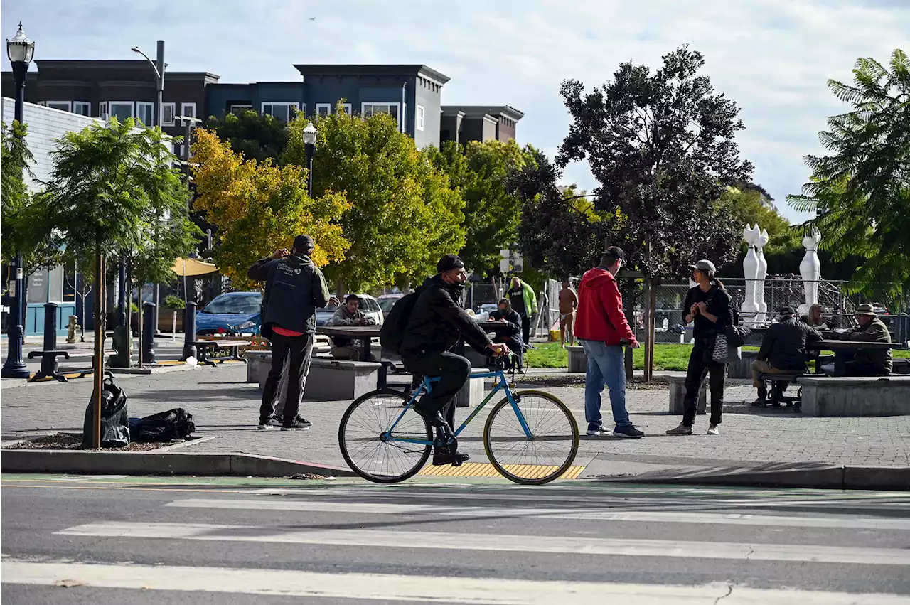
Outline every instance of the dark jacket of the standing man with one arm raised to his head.
<path fill-rule="evenodd" d="M 274 326 L 305 334 L 316 331 L 316 309 L 329 304 L 329 287 L 309 257 L 263 258 L 249 267 L 247 277 L 266 282 L 263 336 L 268 338 Z"/>

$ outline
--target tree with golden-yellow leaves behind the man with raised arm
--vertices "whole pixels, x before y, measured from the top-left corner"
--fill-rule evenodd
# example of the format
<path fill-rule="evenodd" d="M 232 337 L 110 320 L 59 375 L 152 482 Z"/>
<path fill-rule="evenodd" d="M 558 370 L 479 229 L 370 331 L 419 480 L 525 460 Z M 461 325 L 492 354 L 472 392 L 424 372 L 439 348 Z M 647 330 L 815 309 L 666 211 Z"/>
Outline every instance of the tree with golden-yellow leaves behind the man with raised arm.
<path fill-rule="evenodd" d="M 290 248 L 301 233 L 316 240 L 312 259 L 318 267 L 344 260 L 350 247 L 340 224 L 350 207 L 344 194 L 308 197 L 305 168 L 245 160 L 214 133 L 195 134 L 194 205 L 218 227 L 213 256 L 234 287 L 255 287 L 247 269 L 278 248 Z"/>

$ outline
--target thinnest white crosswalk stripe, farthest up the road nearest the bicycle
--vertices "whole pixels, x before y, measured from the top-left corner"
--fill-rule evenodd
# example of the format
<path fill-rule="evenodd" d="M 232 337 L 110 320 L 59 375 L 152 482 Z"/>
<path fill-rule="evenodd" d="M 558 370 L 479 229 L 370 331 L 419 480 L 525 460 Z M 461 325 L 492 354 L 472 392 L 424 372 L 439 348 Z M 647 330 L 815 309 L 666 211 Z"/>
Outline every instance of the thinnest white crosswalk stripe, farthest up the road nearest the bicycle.
<path fill-rule="evenodd" d="M 572 519 L 598 521 L 641 521 L 647 523 L 697 523 L 706 525 L 750 525 L 787 528 L 887 529 L 910 531 L 910 519 L 873 519 L 862 517 L 778 517 L 739 513 L 684 512 L 678 510 L 577 510 L 504 507 L 446 507 L 430 504 L 378 502 L 330 502 L 326 500 L 274 499 L 182 499 L 164 506 L 177 509 L 298 510 L 388 515 L 433 514 L 444 517 L 497 517 Z"/>

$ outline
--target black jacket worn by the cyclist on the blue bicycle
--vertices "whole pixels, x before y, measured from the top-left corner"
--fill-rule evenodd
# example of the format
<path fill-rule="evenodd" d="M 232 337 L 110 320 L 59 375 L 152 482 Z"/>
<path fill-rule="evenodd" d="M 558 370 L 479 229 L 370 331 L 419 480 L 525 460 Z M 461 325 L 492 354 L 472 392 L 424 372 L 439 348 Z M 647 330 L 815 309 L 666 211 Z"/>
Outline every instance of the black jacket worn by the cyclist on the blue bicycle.
<path fill-rule="evenodd" d="M 402 353 L 441 353 L 455 346 L 461 336 L 478 350 L 490 345 L 487 333 L 455 302 L 454 291 L 440 276 L 424 280 L 404 330 Z"/>

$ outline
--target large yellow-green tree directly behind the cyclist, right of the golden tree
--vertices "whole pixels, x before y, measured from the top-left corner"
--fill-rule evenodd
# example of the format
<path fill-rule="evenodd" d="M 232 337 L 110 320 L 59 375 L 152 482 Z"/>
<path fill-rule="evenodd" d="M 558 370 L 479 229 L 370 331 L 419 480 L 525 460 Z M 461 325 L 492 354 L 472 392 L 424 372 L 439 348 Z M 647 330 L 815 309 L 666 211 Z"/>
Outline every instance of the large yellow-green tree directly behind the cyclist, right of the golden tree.
<path fill-rule="evenodd" d="M 303 118 L 290 125 L 288 163 L 306 165 L 306 125 Z M 394 117 L 339 110 L 317 126 L 313 195 L 337 192 L 350 203 L 341 224 L 351 247 L 326 269 L 339 292 L 420 281 L 443 254 L 464 247 L 464 201 Z"/>

